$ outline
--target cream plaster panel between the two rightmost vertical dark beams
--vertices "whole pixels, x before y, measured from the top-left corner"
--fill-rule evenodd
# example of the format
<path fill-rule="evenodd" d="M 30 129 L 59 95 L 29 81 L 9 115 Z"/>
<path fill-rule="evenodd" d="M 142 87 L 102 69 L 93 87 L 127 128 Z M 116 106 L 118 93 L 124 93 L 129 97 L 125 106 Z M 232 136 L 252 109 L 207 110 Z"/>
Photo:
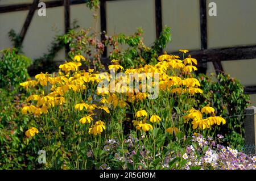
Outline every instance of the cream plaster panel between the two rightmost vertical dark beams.
<path fill-rule="evenodd" d="M 171 27 L 172 41 L 166 50 L 195 50 L 200 43 L 199 1 L 162 0 L 163 26 Z"/>

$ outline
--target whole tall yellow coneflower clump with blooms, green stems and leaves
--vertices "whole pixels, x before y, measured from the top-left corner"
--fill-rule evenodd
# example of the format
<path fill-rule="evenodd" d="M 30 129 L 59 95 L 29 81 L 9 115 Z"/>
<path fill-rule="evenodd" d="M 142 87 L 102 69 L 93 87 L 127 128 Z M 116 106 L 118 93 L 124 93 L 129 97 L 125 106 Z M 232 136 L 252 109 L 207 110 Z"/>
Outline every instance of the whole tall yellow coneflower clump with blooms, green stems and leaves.
<path fill-rule="evenodd" d="M 193 142 L 193 133 L 206 137 L 226 121 L 214 115 L 210 106 L 201 110 L 192 107 L 194 95 L 203 91 L 191 73 L 197 70 L 196 59 L 183 57 L 180 60 L 179 56 L 164 53 L 156 65 L 138 69 L 123 69 L 113 60 L 110 72 L 98 73 L 80 70 L 81 61 L 86 60 L 77 55 L 60 65 L 58 74 L 40 73 L 36 81 L 20 83 L 27 90 L 37 88 L 28 96 L 22 113 L 37 120 L 29 125 L 26 136 L 46 150 L 44 168 L 190 166 L 187 158 L 191 154 L 185 153 L 185 148 Z M 206 151 L 208 145 L 202 144 L 205 142 L 200 142 L 199 147 Z M 204 163 L 205 159 L 197 162 Z"/>

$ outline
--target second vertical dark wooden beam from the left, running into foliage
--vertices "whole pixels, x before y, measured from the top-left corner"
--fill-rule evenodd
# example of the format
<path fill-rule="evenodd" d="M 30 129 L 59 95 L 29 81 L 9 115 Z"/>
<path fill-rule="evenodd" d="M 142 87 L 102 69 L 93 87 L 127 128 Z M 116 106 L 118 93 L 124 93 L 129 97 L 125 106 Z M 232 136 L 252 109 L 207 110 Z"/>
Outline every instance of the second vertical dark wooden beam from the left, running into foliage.
<path fill-rule="evenodd" d="M 105 33 L 106 33 L 106 0 L 100 1 L 100 17 L 101 17 L 101 41 L 104 43 L 105 41 Z M 104 52 L 102 57 L 107 56 L 107 48 L 104 45 Z"/>

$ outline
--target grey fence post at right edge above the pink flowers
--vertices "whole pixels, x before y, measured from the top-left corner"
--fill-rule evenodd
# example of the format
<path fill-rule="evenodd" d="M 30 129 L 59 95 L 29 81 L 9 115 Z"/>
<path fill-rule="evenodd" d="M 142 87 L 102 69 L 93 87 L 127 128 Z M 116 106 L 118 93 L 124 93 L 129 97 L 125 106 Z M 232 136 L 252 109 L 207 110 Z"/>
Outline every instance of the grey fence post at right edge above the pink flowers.
<path fill-rule="evenodd" d="M 251 106 L 245 110 L 245 152 L 256 154 L 256 107 Z"/>

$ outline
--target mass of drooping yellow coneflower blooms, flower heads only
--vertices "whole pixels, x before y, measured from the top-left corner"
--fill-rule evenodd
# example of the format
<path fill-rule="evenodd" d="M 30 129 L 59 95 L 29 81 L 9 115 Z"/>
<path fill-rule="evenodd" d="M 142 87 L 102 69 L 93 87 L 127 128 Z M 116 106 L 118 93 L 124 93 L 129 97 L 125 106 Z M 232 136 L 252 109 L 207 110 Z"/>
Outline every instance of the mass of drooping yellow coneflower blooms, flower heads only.
<path fill-rule="evenodd" d="M 188 50 L 181 50 L 181 52 L 187 53 Z M 164 53 L 162 56 L 158 57 L 159 62 L 156 65 L 145 65 L 137 69 L 123 69 L 123 67 L 118 64 L 117 60 L 113 60 L 111 61 L 112 65 L 108 66 L 109 72 L 101 74 L 93 69 L 89 69 L 88 71 L 79 70 L 82 65 L 81 61 L 86 60 L 83 56 L 77 55 L 72 61 L 65 62 L 59 66 L 61 71 L 58 75 L 55 74 L 53 76 L 48 73 L 40 73 L 35 76 L 35 80 L 20 83 L 20 86 L 23 86 L 24 89 L 41 86 L 44 90 L 42 94 L 39 94 L 39 91 L 37 91 L 36 94 L 28 96 L 28 103 L 22 108 L 22 113 L 40 116 L 49 113 L 56 106 L 63 110 L 63 107 L 71 101 L 67 96 L 68 93 L 73 95 L 85 95 L 88 96 L 85 98 L 88 98 L 86 101 L 72 100 L 74 101 L 73 106 L 68 106 L 68 108 L 73 107 L 74 110 L 77 111 L 76 113 L 80 116 L 79 120 L 77 120 L 79 123 L 86 125 L 91 124 L 89 125 L 89 134 L 101 134 L 104 129 L 106 129 L 105 123 L 100 120 L 94 123 L 92 117 L 94 114 L 93 111 L 98 110 L 98 112 L 110 113 L 111 110 L 115 110 L 118 107 L 126 108 L 129 107 L 129 104 L 143 103 L 150 97 L 148 92 L 140 91 L 142 89 L 149 89 L 148 85 L 143 85 L 143 78 L 145 77 L 148 78 L 151 76 L 155 79 L 155 75 L 158 74 L 159 81 L 152 82 L 152 87 L 158 86 L 159 91 L 161 91 L 159 94 L 163 94 L 163 92 L 168 92 L 168 94 L 173 95 L 193 95 L 202 93 L 200 82 L 190 74 L 191 71 L 197 70 L 195 66 L 197 65 L 196 59 L 192 58 L 190 55 L 184 58 L 184 60 L 180 60 L 179 58 L 179 56 Z M 112 74 L 113 71 L 114 75 Z M 115 77 L 117 72 L 122 73 L 124 77 Z M 127 86 L 131 81 L 131 79 L 129 79 L 130 73 L 137 73 L 138 75 L 138 79 L 135 80 L 135 87 L 132 91 L 130 91 L 130 87 Z M 102 84 L 98 86 L 103 80 L 108 82 L 108 85 L 105 86 Z M 115 85 L 114 88 L 112 85 Z M 48 89 L 49 87 L 50 89 Z M 47 91 L 45 91 L 46 88 Z M 94 95 L 100 96 L 101 105 L 92 103 Z M 202 112 L 206 112 L 205 109 L 202 109 Z M 137 120 L 134 120 L 134 126 L 145 132 L 153 129 L 151 123 L 154 124 L 162 121 L 161 118 L 155 114 L 150 113 L 150 117 L 148 117 L 146 110 L 137 111 L 136 117 Z M 219 124 L 220 121 L 224 123 L 220 117 L 203 119 L 196 110 L 189 111 L 187 118 L 193 119 L 192 124 L 194 129 L 197 127 L 205 129 L 212 125 L 212 123 Z M 150 123 L 146 123 L 147 120 Z M 178 129 L 171 127 L 167 129 L 167 132 L 172 134 L 178 132 Z"/>

